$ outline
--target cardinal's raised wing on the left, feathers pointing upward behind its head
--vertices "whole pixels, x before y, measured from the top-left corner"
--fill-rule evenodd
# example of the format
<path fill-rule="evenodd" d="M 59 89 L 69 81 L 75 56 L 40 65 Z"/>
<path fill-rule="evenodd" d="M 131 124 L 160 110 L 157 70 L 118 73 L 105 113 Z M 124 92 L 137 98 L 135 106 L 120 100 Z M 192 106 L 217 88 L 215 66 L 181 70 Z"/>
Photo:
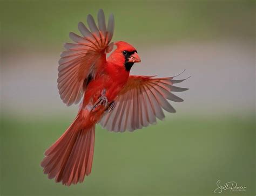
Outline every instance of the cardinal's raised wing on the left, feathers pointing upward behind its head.
<path fill-rule="evenodd" d="M 78 23 L 82 37 L 70 32 L 69 37 L 75 43 L 66 43 L 66 51 L 60 54 L 58 90 L 67 106 L 80 101 L 88 82 L 95 78 L 106 62 L 106 53 L 113 48 L 113 43 L 110 44 L 114 30 L 113 15 L 110 15 L 107 27 L 102 9 L 98 12 L 98 27 L 91 15 L 87 16 L 87 23 L 90 31 L 82 22 Z"/>

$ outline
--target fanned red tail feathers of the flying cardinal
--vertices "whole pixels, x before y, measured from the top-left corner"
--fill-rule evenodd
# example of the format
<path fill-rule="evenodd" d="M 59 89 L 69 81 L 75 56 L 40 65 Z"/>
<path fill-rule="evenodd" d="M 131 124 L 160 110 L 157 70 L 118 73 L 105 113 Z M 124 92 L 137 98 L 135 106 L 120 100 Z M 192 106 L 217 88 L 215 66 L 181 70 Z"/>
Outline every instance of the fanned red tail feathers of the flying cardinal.
<path fill-rule="evenodd" d="M 70 186 L 84 181 L 92 169 L 95 141 L 95 125 L 79 129 L 78 117 L 64 134 L 47 149 L 41 162 L 48 178 L 55 178 L 56 183 Z"/>

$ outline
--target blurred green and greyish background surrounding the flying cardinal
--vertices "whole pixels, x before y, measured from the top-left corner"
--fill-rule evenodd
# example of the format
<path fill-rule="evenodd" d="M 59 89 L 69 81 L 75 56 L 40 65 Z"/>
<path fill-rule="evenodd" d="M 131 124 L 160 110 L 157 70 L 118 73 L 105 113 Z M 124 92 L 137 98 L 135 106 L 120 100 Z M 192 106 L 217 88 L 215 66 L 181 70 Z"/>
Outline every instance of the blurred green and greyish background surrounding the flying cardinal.
<path fill-rule="evenodd" d="M 0 1 L 1 195 L 214 195 L 236 181 L 255 195 L 255 1 Z M 92 173 L 65 187 L 39 163 L 78 106 L 57 91 L 63 43 L 78 22 L 114 13 L 134 45 L 132 74 L 186 68 L 176 114 L 133 133 L 97 126 Z"/>

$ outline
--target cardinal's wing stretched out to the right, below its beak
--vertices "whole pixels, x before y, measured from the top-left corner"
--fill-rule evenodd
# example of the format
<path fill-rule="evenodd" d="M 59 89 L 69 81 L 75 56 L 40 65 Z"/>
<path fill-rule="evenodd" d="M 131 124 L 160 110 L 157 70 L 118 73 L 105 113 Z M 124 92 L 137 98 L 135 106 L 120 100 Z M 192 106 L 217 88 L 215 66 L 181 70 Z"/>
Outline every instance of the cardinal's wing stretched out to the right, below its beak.
<path fill-rule="evenodd" d="M 183 80 L 153 78 L 154 76 L 130 75 L 126 86 L 116 100 L 116 107 L 109 113 L 105 111 L 100 124 L 115 132 L 142 129 L 165 117 L 163 109 L 170 113 L 176 110 L 167 100 L 182 102 L 183 99 L 171 92 L 183 92 L 187 88 L 173 86 Z"/>

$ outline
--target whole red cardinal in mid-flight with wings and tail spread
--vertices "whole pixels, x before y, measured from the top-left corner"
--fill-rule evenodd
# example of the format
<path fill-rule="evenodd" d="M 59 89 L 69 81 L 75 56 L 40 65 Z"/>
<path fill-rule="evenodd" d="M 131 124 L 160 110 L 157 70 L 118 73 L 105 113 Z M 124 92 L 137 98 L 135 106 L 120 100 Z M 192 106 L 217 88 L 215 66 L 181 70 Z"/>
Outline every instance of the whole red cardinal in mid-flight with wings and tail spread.
<path fill-rule="evenodd" d="M 110 131 L 142 129 L 163 120 L 163 109 L 174 113 L 167 101 L 183 101 L 171 92 L 187 88 L 172 86 L 183 80 L 174 77 L 130 75 L 135 62 L 140 62 L 136 48 L 124 42 L 111 43 L 114 18 L 106 27 L 103 10 L 98 12 L 98 27 L 87 16 L 90 31 L 78 23 L 82 37 L 70 33 L 75 41 L 66 43 L 60 55 L 58 89 L 60 98 L 70 106 L 82 97 L 77 117 L 64 134 L 45 151 L 41 165 L 48 177 L 64 185 L 81 183 L 92 169 L 95 125 Z M 106 59 L 106 54 L 111 52 Z"/>

